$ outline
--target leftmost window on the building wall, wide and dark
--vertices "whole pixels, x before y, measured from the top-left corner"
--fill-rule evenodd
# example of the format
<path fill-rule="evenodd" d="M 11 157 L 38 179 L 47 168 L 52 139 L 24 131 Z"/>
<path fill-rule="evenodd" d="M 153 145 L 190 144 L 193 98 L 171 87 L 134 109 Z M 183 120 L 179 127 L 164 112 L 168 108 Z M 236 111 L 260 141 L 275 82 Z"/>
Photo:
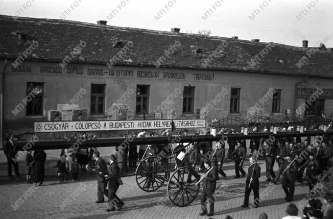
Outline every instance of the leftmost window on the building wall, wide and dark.
<path fill-rule="evenodd" d="M 30 96 L 31 101 L 27 102 L 26 114 L 43 115 L 44 83 L 28 82 L 27 97 L 28 96 Z"/>

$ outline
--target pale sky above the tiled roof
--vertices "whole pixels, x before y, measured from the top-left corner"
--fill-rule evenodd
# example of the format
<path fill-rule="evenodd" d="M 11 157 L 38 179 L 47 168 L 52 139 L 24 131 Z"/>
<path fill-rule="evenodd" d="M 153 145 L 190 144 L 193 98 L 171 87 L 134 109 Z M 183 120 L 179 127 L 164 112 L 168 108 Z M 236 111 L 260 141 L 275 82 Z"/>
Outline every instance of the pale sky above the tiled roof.
<path fill-rule="evenodd" d="M 0 14 L 333 47 L 332 0 L 0 0 Z M 111 16 L 110 15 L 113 15 Z"/>

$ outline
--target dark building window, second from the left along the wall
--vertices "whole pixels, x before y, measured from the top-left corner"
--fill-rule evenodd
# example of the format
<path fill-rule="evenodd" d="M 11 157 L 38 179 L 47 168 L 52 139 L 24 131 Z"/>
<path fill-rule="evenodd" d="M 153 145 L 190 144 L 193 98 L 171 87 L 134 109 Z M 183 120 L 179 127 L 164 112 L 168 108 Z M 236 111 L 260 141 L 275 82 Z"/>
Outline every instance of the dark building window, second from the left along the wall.
<path fill-rule="evenodd" d="M 104 114 L 105 84 L 91 84 L 90 114 Z"/>

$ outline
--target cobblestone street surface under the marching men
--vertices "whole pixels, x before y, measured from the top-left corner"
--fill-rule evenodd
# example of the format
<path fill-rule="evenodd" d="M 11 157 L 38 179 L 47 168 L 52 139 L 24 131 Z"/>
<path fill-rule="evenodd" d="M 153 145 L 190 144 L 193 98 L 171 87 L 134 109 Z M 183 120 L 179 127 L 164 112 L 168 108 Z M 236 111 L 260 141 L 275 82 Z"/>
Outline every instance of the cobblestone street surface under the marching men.
<path fill-rule="evenodd" d="M 265 181 L 265 164 L 258 161 L 261 166 L 260 191 L 269 191 L 269 184 Z M 260 207 L 256 209 L 241 208 L 244 200 L 245 178 L 233 179 L 233 163 L 226 163 L 227 180 L 219 180 L 217 187 L 224 183 L 225 190 L 217 197 L 215 202 L 215 214 L 212 218 L 225 218 L 227 215 L 236 219 L 258 218 L 259 213 L 266 212 L 269 218 L 281 218 L 285 216 L 288 203 L 284 202 L 284 192 L 281 184 L 276 185 L 272 191 L 267 192 L 267 197 L 261 200 Z M 245 164 L 247 171 L 248 164 Z M 274 167 L 277 170 L 277 166 Z M 80 180 L 80 179 L 79 179 Z M 135 177 L 123 178 L 124 185 L 118 189 L 125 206 L 121 211 L 106 212 L 107 202 L 96 204 L 97 182 L 93 178 L 77 182 L 45 181 L 44 185 L 36 188 L 26 200 L 23 198 L 31 184 L 3 184 L 0 185 L 1 194 L 1 218 L 208 218 L 199 216 L 200 198 L 187 207 L 176 207 L 168 200 L 165 205 L 156 205 L 158 201 L 167 197 L 166 187 L 163 186 L 155 192 L 145 192 L 138 188 Z M 227 186 L 227 187 L 226 187 Z M 297 204 L 308 192 L 307 186 L 297 184 L 294 203 Z M 69 198 L 74 193 L 74 200 Z M 199 193 L 200 194 L 200 193 Z M 23 203 L 14 210 L 12 205 L 22 198 Z M 69 204 L 61 209 L 62 202 L 69 198 Z M 253 203 L 253 193 L 250 195 L 250 203 Z M 301 210 L 299 212 L 301 214 Z"/>

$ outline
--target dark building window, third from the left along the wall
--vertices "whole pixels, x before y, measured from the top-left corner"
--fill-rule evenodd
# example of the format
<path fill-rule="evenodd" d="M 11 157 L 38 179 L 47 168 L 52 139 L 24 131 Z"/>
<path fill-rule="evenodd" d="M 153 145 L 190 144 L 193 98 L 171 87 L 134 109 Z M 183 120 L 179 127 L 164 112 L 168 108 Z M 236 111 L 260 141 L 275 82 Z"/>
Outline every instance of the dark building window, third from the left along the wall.
<path fill-rule="evenodd" d="M 149 88 L 150 85 L 136 86 L 136 114 L 146 114 L 149 109 Z"/>

